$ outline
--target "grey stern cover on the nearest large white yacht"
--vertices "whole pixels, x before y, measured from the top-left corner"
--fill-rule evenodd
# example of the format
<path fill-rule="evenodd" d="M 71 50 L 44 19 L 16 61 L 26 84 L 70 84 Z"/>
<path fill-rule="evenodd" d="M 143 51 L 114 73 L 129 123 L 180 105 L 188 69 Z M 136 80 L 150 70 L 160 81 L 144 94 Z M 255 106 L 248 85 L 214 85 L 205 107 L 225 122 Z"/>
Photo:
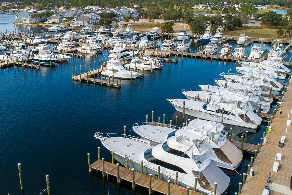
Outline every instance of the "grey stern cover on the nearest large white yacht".
<path fill-rule="evenodd" d="M 228 188 L 230 183 L 230 178 L 221 170 L 219 169 L 213 161 L 202 171 L 205 175 L 208 182 L 211 184 L 212 188 L 214 189 L 214 183 L 217 183 L 217 193 L 221 195 L 225 192 Z"/>

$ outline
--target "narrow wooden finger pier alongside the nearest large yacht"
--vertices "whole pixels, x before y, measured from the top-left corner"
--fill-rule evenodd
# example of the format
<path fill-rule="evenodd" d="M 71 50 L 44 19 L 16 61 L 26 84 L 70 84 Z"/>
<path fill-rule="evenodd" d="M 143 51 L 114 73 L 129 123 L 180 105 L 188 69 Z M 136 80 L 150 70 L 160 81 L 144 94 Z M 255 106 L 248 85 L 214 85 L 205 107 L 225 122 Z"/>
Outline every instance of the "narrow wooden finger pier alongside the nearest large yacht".
<path fill-rule="evenodd" d="M 94 170 L 102 171 L 102 160 L 97 160 L 90 165 Z M 105 161 L 105 173 L 117 177 L 117 165 Z M 119 177 L 121 180 L 128 182 L 133 181 L 132 170 L 125 167 L 119 166 Z M 149 175 L 142 174 L 135 171 L 135 185 L 139 185 L 149 189 Z M 161 194 L 168 194 L 168 182 L 164 180 L 159 180 L 155 177 L 151 179 L 152 191 L 157 191 Z M 187 189 L 180 187 L 178 185 L 170 183 L 170 194 L 175 195 L 186 195 Z M 194 192 L 190 190 L 190 195 L 202 195 L 199 192 Z"/>

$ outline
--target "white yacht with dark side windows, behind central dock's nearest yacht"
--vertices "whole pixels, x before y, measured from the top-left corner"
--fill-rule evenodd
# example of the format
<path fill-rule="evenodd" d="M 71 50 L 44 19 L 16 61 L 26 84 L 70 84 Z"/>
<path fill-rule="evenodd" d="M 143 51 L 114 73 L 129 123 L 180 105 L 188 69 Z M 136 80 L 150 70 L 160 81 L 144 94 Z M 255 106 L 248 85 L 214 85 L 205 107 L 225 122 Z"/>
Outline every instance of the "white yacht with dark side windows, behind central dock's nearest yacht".
<path fill-rule="evenodd" d="M 114 49 L 109 51 L 109 60 L 127 61 L 139 54 L 138 51 L 126 51 L 126 49 L 114 46 Z"/>

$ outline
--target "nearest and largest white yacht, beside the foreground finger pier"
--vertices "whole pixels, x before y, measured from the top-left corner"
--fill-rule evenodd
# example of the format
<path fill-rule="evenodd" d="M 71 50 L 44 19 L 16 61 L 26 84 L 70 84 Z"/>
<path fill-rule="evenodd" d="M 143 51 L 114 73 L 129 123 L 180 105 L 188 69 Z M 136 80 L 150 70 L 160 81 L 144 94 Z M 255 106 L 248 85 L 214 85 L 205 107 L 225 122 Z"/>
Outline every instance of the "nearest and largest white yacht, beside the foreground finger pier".
<path fill-rule="evenodd" d="M 100 139 L 102 145 L 109 151 L 113 151 L 114 158 L 122 165 L 130 169 L 152 174 L 158 177 L 158 165 L 160 165 L 159 178 L 170 180 L 181 187 L 190 187 L 204 194 L 214 194 L 212 188 L 217 182 L 216 194 L 224 195 L 228 191 L 230 178 L 211 161 L 210 141 L 208 131 L 186 131 L 184 136 L 170 137 L 164 143 L 156 146 L 150 145 L 150 141 L 124 134 L 102 134 L 94 132 L 95 138 Z M 195 177 L 197 183 L 195 184 Z"/>

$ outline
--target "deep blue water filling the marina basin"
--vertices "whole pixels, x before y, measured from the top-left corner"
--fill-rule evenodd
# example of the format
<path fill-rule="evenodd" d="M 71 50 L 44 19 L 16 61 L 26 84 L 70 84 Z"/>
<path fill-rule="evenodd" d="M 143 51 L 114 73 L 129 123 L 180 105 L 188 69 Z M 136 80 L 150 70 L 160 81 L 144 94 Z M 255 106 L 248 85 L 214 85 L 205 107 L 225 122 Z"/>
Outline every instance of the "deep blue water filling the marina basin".
<path fill-rule="evenodd" d="M 0 14 L 0 30 L 14 30 L 14 15 Z M 5 18 L 8 25 L 5 25 Z M 16 26 L 16 30 L 30 30 Z M 45 32 L 44 28 L 36 28 Z M 200 44 L 191 42 L 192 51 Z M 263 45 L 263 50 L 269 48 Z M 220 49 L 219 49 L 220 51 Z M 77 73 L 87 71 L 89 63 L 105 60 L 105 56 L 87 55 L 55 67 L 41 70 L 13 68 L 1 70 L 0 107 L 0 194 L 20 194 L 17 163 L 22 163 L 25 194 L 39 194 L 46 189 L 45 175 L 50 177 L 52 194 L 103 194 L 102 182 L 92 180 L 89 185 L 87 153 L 91 162 L 97 160 L 97 147 L 101 157 L 111 155 L 93 132 L 123 133 L 133 123 L 145 122 L 146 114 L 154 120 L 163 118 L 169 123 L 175 116 L 182 124 L 182 115 L 166 99 L 185 98 L 182 89 L 199 88 L 200 84 L 214 84 L 219 73 L 234 71 L 235 63 L 204 59 L 178 58 L 178 64 L 165 63 L 160 71 L 146 73 L 141 80 L 122 80 L 121 89 L 98 85 L 76 84 L 71 79 L 71 68 Z M 249 133 L 248 142 L 257 144 L 265 127 L 259 133 Z M 134 134 L 129 132 L 129 134 Z M 241 132 L 236 134 L 237 139 Z M 240 171 L 247 170 L 248 160 Z M 238 191 L 240 175 L 231 179 L 230 194 Z M 106 188 L 107 194 L 107 188 Z M 109 194 L 128 192 L 109 186 Z M 46 192 L 44 192 L 46 193 Z M 141 193 L 141 192 L 139 192 Z M 145 192 L 146 193 L 146 192 Z"/>

